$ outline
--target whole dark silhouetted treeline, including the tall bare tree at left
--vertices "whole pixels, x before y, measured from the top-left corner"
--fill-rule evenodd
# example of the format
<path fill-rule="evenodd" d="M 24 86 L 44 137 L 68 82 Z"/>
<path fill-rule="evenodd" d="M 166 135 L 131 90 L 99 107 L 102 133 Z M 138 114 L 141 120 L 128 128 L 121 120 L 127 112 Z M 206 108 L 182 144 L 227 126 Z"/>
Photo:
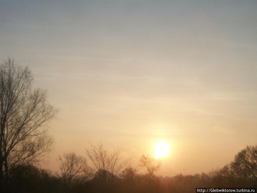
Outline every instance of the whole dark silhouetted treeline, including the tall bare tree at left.
<path fill-rule="evenodd" d="M 33 89 L 28 67 L 10 58 L 0 65 L 0 192 L 195 192 L 195 187 L 256 187 L 257 146 L 247 146 L 233 162 L 208 174 L 156 177 L 161 163 L 142 155 L 138 167 L 121 160 L 122 150 L 102 144 L 86 148 L 86 157 L 58 157 L 60 172 L 38 164 L 53 148 L 48 122 L 58 110 L 45 90 Z"/>

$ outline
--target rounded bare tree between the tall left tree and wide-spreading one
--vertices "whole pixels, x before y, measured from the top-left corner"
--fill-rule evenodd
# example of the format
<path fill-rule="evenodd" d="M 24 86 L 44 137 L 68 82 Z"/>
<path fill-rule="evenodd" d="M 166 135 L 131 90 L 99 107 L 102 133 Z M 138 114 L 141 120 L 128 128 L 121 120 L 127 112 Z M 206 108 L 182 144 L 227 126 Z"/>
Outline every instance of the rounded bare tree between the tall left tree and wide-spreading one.
<path fill-rule="evenodd" d="M 59 156 L 57 161 L 60 165 L 61 177 L 67 189 L 70 188 L 75 178 L 79 178 L 81 182 L 89 178 L 87 160 L 83 156 L 77 156 L 73 152 L 65 153 L 62 157 Z"/>

